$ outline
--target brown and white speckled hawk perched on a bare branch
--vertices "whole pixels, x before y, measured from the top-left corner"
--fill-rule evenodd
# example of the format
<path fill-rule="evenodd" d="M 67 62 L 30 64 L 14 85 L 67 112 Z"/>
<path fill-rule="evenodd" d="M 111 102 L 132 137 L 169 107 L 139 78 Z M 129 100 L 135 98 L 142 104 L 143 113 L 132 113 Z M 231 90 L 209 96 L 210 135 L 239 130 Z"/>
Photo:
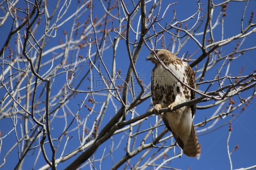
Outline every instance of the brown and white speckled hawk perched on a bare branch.
<path fill-rule="evenodd" d="M 196 88 L 195 72 L 185 62 L 166 49 L 155 51 L 158 58 L 167 66 L 184 84 Z M 173 111 L 173 107 L 195 99 L 196 92 L 182 85 L 172 74 L 166 70 L 151 52 L 146 60 L 155 64 L 151 76 L 151 93 L 154 108 L 151 112 L 159 114 L 159 109 L 168 107 L 170 112 L 160 113 L 166 127 L 172 132 L 173 137 L 189 157 L 196 157 L 201 153 L 193 126 L 192 117 L 196 113 L 196 105 L 181 107 Z"/>

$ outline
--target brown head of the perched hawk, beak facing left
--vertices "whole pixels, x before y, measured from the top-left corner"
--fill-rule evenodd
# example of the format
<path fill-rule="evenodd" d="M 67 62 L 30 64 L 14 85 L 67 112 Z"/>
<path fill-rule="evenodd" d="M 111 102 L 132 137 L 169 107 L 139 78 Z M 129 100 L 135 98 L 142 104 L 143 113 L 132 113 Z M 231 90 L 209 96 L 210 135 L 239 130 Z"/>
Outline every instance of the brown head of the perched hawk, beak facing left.
<path fill-rule="evenodd" d="M 172 54 L 170 51 L 168 51 L 167 49 L 156 49 L 155 51 L 156 55 L 158 56 L 158 58 L 164 63 L 170 63 L 172 61 L 173 57 L 176 57 L 174 54 Z M 151 52 L 150 55 L 148 55 L 148 57 L 146 58 L 146 60 L 151 60 L 152 63 L 154 64 L 158 64 L 160 63 L 156 56 L 155 56 L 154 52 Z"/>

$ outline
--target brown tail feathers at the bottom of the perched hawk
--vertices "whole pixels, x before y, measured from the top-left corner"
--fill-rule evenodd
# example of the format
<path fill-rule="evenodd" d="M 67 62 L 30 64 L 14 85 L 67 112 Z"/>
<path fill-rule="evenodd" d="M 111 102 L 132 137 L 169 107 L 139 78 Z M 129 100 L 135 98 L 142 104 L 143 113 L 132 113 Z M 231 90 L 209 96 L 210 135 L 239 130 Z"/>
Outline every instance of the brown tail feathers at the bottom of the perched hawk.
<path fill-rule="evenodd" d="M 196 131 L 195 131 L 193 123 L 191 125 L 190 136 L 188 138 L 187 144 L 185 145 L 185 147 L 183 149 L 183 153 L 189 157 L 196 157 L 201 153 L 201 148 L 198 143 L 198 139 L 196 136 Z"/>

